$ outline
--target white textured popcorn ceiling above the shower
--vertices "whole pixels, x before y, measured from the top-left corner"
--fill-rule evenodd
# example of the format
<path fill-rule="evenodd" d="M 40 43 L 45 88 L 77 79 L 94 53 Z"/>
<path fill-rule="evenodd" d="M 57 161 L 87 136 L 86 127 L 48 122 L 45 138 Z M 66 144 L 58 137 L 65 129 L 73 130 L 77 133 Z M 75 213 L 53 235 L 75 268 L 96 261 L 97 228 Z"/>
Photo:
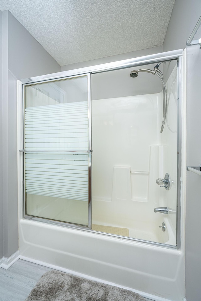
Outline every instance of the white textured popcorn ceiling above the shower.
<path fill-rule="evenodd" d="M 61 65 L 162 45 L 175 0 L 0 0 Z"/>

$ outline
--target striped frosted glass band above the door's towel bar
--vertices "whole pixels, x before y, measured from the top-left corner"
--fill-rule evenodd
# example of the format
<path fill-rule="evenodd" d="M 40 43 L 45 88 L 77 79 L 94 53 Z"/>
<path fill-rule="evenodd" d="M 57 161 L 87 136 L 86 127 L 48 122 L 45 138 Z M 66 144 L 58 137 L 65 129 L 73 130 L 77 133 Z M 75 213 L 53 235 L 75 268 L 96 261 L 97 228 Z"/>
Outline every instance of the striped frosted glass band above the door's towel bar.
<path fill-rule="evenodd" d="M 25 108 L 27 150 L 88 150 L 88 103 Z"/>

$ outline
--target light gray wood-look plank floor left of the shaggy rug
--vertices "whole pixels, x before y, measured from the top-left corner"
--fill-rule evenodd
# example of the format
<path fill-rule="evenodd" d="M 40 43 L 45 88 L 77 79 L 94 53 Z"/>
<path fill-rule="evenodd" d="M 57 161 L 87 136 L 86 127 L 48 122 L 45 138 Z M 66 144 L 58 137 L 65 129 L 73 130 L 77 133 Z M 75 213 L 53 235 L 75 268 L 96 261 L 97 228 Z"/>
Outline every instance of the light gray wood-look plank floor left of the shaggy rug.
<path fill-rule="evenodd" d="M 51 270 L 21 259 L 8 270 L 0 268 L 0 301 L 24 301 L 41 276 Z"/>

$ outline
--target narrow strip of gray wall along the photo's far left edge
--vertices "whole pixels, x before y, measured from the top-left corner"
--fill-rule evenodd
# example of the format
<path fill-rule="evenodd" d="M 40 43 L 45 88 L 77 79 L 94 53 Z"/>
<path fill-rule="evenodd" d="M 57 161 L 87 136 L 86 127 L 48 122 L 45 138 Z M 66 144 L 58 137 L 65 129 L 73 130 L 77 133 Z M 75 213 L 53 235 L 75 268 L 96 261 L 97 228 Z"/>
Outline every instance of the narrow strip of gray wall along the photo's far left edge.
<path fill-rule="evenodd" d="M 2 12 L 0 11 L 0 258 L 3 256 L 3 173 L 2 173 Z"/>

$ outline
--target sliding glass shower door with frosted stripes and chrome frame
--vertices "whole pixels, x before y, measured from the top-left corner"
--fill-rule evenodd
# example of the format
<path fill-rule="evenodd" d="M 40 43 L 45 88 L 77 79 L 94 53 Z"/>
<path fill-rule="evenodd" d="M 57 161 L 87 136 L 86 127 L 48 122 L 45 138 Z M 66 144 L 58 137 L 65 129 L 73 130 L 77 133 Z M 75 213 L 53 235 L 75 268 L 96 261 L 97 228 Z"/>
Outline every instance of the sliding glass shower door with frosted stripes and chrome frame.
<path fill-rule="evenodd" d="M 91 226 L 90 75 L 24 85 L 25 215 Z"/>

